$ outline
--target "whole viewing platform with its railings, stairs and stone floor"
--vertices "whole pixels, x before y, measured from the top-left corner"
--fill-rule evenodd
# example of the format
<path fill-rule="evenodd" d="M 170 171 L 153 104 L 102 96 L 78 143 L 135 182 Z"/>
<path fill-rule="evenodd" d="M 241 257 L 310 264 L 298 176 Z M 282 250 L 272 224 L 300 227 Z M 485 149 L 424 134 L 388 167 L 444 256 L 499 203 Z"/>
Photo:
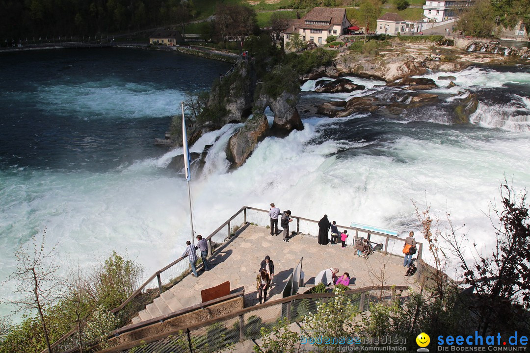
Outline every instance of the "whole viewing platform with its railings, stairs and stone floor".
<path fill-rule="evenodd" d="M 290 239 L 285 242 L 281 232 L 271 236 L 267 210 L 242 207 L 205 238 L 209 271 L 202 270 L 197 250 L 198 277 L 191 276 L 188 257 L 180 257 L 156 271 L 125 302 L 110 310 L 121 315 L 134 308 L 133 315 L 138 315 L 110 333 L 108 343 L 112 348 L 105 349 L 105 353 L 131 353 L 135 347 L 146 345 L 153 350 L 189 353 L 215 352 L 237 345 L 238 351 L 246 351 L 261 337 L 261 328 L 270 329 L 281 319 L 295 327 L 316 310 L 320 301 L 335 295 L 331 291 L 310 293 L 315 276 L 328 268 L 338 268 L 339 276 L 349 273 L 350 285 L 344 295 L 358 312 L 396 297 L 406 301 L 409 289 L 419 288 L 425 266 L 421 242 L 417 242 L 418 253 L 414 256 L 418 271 L 409 277 L 405 275 L 401 251 L 405 237 L 394 231 L 355 222 L 350 226 L 338 224 L 339 231 L 346 229 L 349 234 L 347 247 L 341 248 L 341 243 L 319 245 L 318 221 L 297 215 L 291 215 L 291 219 Z M 377 245 L 377 251 L 359 257 L 354 244 L 361 238 Z M 274 263 L 275 275 L 267 301 L 259 304 L 256 277 L 266 256 Z M 54 342 L 52 352 L 79 351 L 76 332 L 73 328 Z"/>

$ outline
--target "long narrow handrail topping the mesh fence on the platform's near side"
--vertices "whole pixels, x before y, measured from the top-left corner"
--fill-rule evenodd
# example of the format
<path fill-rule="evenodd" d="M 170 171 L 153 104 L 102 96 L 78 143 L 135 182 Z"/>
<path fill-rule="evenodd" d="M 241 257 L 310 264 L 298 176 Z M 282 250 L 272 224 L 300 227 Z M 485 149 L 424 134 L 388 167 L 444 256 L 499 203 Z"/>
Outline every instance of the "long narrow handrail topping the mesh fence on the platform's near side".
<path fill-rule="evenodd" d="M 369 286 L 369 287 L 364 287 L 364 288 L 351 289 L 349 291 L 345 291 L 344 294 L 348 295 L 348 294 L 363 293 L 363 292 L 368 292 L 368 291 L 388 291 L 389 289 L 396 289 L 398 291 L 404 291 L 408 288 L 409 288 L 408 286 Z M 156 334 L 149 338 L 138 339 L 136 341 L 126 343 L 125 345 L 107 348 L 107 349 L 99 351 L 98 353 L 118 353 L 118 352 L 122 352 L 124 350 L 130 349 L 130 348 L 134 348 L 139 345 L 148 345 L 151 342 L 155 342 L 155 341 L 167 338 L 169 336 L 173 336 L 174 334 L 178 334 L 180 331 L 188 331 L 188 330 L 192 331 L 192 330 L 206 327 L 208 325 L 211 325 L 211 324 L 214 324 L 220 321 L 232 319 L 232 318 L 235 318 L 236 316 L 240 316 L 240 315 L 252 312 L 252 311 L 262 310 L 262 309 L 265 309 L 266 307 L 277 305 L 277 304 L 284 304 L 284 303 L 293 302 L 295 300 L 302 300 L 302 299 L 315 299 L 315 298 L 320 299 L 320 298 L 330 298 L 334 296 L 335 296 L 335 293 L 296 294 L 296 295 L 289 296 L 286 298 L 269 301 L 269 302 L 266 302 L 260 305 L 246 307 L 245 309 L 242 309 L 242 310 L 239 310 L 233 313 L 229 313 L 223 316 L 217 316 L 217 318 L 215 319 L 202 321 L 202 322 L 199 322 L 193 325 L 188 325 L 185 327 L 179 327 L 179 328 L 176 328 L 170 331 L 166 331 L 164 333 Z"/>

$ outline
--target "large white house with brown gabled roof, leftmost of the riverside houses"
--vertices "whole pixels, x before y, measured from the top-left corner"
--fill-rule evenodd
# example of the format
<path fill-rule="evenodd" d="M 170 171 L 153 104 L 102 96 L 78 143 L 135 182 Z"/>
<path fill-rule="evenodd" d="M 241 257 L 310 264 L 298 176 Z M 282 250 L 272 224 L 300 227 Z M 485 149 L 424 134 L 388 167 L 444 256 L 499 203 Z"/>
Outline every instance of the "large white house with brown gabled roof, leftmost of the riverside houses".
<path fill-rule="evenodd" d="M 283 32 L 284 44 L 291 35 L 297 33 L 304 42 L 314 41 L 321 46 L 329 35 L 345 34 L 350 25 L 345 8 L 315 7 L 302 19 L 290 21 L 289 27 Z"/>

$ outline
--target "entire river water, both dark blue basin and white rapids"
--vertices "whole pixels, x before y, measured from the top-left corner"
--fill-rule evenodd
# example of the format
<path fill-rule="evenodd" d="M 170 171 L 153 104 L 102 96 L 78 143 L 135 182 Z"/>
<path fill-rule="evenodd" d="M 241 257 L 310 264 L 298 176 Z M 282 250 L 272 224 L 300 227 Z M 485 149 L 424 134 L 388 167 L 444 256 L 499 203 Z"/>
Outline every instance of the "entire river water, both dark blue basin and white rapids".
<path fill-rule="evenodd" d="M 131 49 L 10 53 L 0 64 L 0 280 L 14 269 L 18 244 L 45 227 L 64 267 L 127 250 L 149 276 L 179 257 L 190 233 L 187 186 L 165 167 L 182 152 L 152 139 L 180 113 L 185 92 L 207 89 L 230 65 Z M 266 138 L 236 170 L 225 147 L 240 125 L 206 134 L 191 147 L 214 143 L 192 180 L 196 230 L 209 234 L 243 205 L 275 202 L 306 218 L 327 213 L 404 234 L 418 230 L 412 198 L 440 218 L 447 210 L 481 249 L 491 246 L 487 214 L 501 181 L 530 185 L 530 68 L 439 75 L 457 86 L 430 90 L 437 104 L 338 119 L 306 113 L 305 130 Z M 447 86 L 439 75 L 425 77 Z M 367 89 L 316 94 L 310 81 L 301 103 L 395 98 L 395 88 L 351 79 Z M 469 93 L 480 100 L 472 123 L 452 124 L 452 104 Z M 12 288 L 4 284 L 0 296 Z"/>

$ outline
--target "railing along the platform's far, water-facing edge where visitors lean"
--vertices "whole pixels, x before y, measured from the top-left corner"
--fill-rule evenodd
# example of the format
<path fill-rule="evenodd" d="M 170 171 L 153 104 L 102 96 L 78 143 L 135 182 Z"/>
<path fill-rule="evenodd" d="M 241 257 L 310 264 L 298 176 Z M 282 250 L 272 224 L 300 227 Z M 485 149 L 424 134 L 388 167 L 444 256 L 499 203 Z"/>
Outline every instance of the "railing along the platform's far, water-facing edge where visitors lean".
<path fill-rule="evenodd" d="M 296 220 L 296 233 L 302 233 L 307 236 L 316 237 L 319 233 L 319 226 L 316 220 L 303 218 L 301 216 L 291 215 L 291 219 Z M 230 239 L 231 235 L 234 234 L 238 229 L 240 229 L 245 224 L 256 224 L 263 227 L 270 227 L 270 218 L 269 211 L 257 209 L 254 207 L 243 206 L 238 210 L 234 215 L 231 216 L 227 221 L 225 221 L 219 228 L 213 231 L 206 240 L 208 242 L 208 256 L 212 256 L 216 249 L 221 247 L 227 240 Z M 295 222 L 293 222 L 295 223 Z M 234 226 L 234 228 L 233 228 Z M 398 250 L 395 250 L 394 247 L 391 247 L 393 242 L 404 243 L 403 238 L 390 236 L 384 233 L 378 233 L 375 231 L 367 231 L 361 228 L 347 227 L 343 225 L 337 225 L 339 229 L 347 229 L 355 231 L 355 237 L 351 243 L 357 241 L 359 237 L 363 234 L 368 240 L 372 243 L 382 243 L 384 244 L 383 251 L 387 251 L 394 255 L 401 254 L 402 244 L 398 247 Z M 292 231 L 295 231 L 293 227 Z M 348 241 L 348 243 L 350 243 Z M 421 264 L 421 255 L 422 255 L 422 243 L 418 244 L 418 265 Z M 390 251 L 389 251 L 390 250 Z M 198 250 L 197 250 L 198 252 Z M 200 255 L 198 253 L 198 255 Z M 148 289 L 158 289 L 158 292 L 162 294 L 164 286 L 172 286 L 179 282 L 185 275 L 191 273 L 189 261 L 187 260 L 188 256 L 179 257 L 174 260 L 171 264 L 165 266 L 164 268 L 156 271 L 151 277 L 149 277 L 133 294 L 131 294 L 126 301 L 124 301 L 118 307 L 110 310 L 111 313 L 118 313 L 123 308 L 126 307 L 128 303 L 134 300 L 138 295 L 145 293 Z M 200 256 L 198 256 L 200 259 Z M 186 259 L 187 261 L 183 261 Z M 419 269 L 419 268 L 418 268 Z M 77 341 L 75 340 L 75 335 L 77 334 L 77 328 L 69 331 L 64 336 L 59 338 L 56 342 L 51 345 L 52 352 L 64 352 L 72 351 L 77 346 Z M 69 343 L 67 343 L 69 342 Z M 54 349 L 56 348 L 56 349 Z M 43 350 L 41 353 L 46 353 L 47 349 Z M 74 349 L 75 351 L 75 349 Z"/>

